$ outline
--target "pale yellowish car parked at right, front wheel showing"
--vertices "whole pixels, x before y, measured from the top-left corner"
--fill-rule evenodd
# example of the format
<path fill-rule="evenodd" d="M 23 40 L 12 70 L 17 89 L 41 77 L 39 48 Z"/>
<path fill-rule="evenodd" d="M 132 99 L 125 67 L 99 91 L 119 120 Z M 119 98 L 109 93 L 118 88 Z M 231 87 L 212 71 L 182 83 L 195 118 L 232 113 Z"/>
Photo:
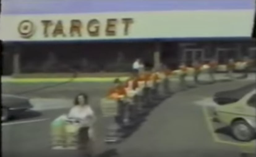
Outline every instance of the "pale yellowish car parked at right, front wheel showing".
<path fill-rule="evenodd" d="M 252 89 L 236 101 L 215 108 L 216 119 L 231 126 L 233 137 L 239 141 L 251 141 L 256 135 L 256 89 Z"/>

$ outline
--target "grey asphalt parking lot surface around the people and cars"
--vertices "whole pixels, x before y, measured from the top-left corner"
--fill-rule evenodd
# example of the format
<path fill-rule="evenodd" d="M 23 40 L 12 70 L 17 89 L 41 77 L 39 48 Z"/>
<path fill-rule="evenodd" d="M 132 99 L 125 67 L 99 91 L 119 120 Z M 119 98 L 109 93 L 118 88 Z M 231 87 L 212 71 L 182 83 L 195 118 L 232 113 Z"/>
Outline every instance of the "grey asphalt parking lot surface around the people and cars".
<path fill-rule="evenodd" d="M 23 93 L 23 91 L 55 83 L 3 83 L 3 93 L 23 93 L 23 96 L 37 101 L 37 108 L 34 108 L 35 111 L 23 113 L 11 121 L 2 123 L 2 155 L 4 157 L 82 156 L 79 151 L 51 150 L 49 126 L 54 118 L 68 112 L 75 95 L 86 92 L 98 117 L 95 126 L 97 156 L 114 156 L 111 150 L 116 150 L 121 157 L 239 157 L 236 146 L 214 142 L 211 132 L 207 129 L 202 106 L 196 102 L 212 96 L 217 91 L 235 89 L 252 82 L 255 81 L 251 79 L 218 82 L 179 91 L 177 81 L 173 81 L 171 87 L 176 93 L 154 108 L 146 117 L 146 121 L 130 137 L 115 145 L 106 145 L 103 142 L 109 120 L 101 117 L 99 107 L 100 98 L 106 94 L 111 83 L 67 83 L 31 93 Z M 47 104 L 49 99 L 56 102 L 65 101 L 62 107 L 55 102 L 52 106 L 48 104 L 48 107 L 39 108 Z M 43 103 L 38 104 L 40 100 Z"/>

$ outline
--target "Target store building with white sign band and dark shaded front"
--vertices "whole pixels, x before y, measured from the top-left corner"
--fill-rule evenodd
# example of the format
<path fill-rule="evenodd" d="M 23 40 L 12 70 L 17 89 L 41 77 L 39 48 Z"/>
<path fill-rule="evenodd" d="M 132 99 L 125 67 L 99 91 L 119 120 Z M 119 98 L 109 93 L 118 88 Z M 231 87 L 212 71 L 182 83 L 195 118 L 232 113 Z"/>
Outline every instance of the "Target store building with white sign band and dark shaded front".
<path fill-rule="evenodd" d="M 84 72 L 128 71 L 137 57 L 171 68 L 255 58 L 254 13 L 254 0 L 3 0 L 4 71 L 32 72 L 52 54 Z"/>

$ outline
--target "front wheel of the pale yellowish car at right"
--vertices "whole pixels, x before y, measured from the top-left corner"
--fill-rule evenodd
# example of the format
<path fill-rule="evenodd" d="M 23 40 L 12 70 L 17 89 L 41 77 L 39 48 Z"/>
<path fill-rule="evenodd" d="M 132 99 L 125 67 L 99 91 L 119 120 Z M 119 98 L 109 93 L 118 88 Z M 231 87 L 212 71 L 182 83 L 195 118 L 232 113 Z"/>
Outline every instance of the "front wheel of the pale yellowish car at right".
<path fill-rule="evenodd" d="M 254 129 L 243 120 L 232 123 L 232 134 L 239 141 L 250 141 L 254 138 Z"/>

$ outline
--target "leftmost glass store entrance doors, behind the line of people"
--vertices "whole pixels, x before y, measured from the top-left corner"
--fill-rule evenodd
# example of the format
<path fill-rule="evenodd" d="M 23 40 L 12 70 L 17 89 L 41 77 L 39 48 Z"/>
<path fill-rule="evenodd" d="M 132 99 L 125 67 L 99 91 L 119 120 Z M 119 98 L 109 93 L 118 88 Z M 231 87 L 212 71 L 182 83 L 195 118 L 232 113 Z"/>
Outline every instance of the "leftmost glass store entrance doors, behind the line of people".
<path fill-rule="evenodd" d="M 203 49 L 184 49 L 182 62 L 185 62 L 187 66 L 192 66 L 195 61 L 203 61 Z"/>

